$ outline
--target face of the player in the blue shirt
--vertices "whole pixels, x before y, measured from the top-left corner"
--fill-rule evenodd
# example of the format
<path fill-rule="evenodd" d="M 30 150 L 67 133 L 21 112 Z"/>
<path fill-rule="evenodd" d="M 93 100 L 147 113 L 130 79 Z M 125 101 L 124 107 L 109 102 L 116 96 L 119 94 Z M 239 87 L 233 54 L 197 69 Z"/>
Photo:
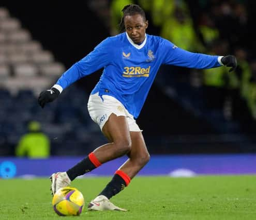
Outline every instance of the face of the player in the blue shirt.
<path fill-rule="evenodd" d="M 135 43 L 142 43 L 145 39 L 148 21 L 145 21 L 140 14 L 126 15 L 124 18 L 126 32 Z"/>

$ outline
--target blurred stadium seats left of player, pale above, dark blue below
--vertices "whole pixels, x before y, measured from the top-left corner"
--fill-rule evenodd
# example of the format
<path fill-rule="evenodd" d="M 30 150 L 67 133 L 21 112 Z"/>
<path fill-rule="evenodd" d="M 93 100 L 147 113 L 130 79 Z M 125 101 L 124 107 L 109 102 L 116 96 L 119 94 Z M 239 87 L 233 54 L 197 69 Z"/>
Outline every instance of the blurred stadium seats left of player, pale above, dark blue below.
<path fill-rule="evenodd" d="M 72 86 L 43 110 L 37 104 L 39 93 L 64 71 L 65 66 L 32 39 L 18 19 L 0 8 L 0 156 L 14 154 L 30 120 L 42 124 L 52 155 L 77 155 L 80 148 L 90 149 L 89 143 L 101 144 L 101 139 L 91 141 L 100 131 L 87 113 L 88 94 Z"/>

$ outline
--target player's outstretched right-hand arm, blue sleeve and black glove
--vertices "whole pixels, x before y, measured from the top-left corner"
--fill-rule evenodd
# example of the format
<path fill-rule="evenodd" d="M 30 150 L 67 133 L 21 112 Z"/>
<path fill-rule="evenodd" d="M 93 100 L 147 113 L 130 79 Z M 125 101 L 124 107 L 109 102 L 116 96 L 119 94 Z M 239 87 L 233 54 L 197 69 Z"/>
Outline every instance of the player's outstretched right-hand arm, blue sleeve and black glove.
<path fill-rule="evenodd" d="M 206 54 L 198 54 L 188 52 L 187 50 L 178 48 L 173 43 L 167 40 L 163 40 L 162 48 L 164 50 L 165 64 L 177 65 L 195 69 L 210 69 L 225 65 L 231 67 L 230 71 L 233 71 L 236 66 L 236 58 L 233 55 L 228 56 L 212 56 Z"/>

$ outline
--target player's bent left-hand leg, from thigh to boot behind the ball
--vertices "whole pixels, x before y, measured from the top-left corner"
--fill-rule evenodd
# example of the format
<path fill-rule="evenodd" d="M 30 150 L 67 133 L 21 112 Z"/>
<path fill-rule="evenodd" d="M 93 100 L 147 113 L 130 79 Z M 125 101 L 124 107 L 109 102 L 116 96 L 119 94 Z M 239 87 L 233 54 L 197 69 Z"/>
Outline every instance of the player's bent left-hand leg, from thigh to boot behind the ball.
<path fill-rule="evenodd" d="M 96 148 L 78 164 L 67 172 L 52 174 L 51 190 L 54 194 L 59 188 L 65 187 L 78 176 L 91 172 L 101 164 L 127 154 L 131 148 L 131 138 L 125 116 L 111 114 L 102 128 L 103 134 L 110 143 Z"/>

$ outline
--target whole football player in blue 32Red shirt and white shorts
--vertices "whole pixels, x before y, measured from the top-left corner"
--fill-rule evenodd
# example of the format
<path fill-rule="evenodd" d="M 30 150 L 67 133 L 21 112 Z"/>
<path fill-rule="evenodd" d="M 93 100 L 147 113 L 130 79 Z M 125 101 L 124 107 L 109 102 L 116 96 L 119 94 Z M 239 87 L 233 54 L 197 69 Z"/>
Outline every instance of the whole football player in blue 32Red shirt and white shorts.
<path fill-rule="evenodd" d="M 125 27 L 125 32 L 103 40 L 91 53 L 74 63 L 51 89 L 41 92 L 38 98 L 43 108 L 71 83 L 104 67 L 99 82 L 89 96 L 88 112 L 109 143 L 96 148 L 68 171 L 54 173 L 50 178 L 54 194 L 76 177 L 127 155 L 128 160 L 118 168 L 106 188 L 89 203 L 88 210 L 126 211 L 109 199 L 127 187 L 149 161 L 142 130 L 135 119 L 161 64 L 197 69 L 225 65 L 231 67 L 230 71 L 237 65 L 232 55 L 191 53 L 161 37 L 147 35 L 148 21 L 138 5 L 127 5 L 122 11 L 121 25 Z"/>

